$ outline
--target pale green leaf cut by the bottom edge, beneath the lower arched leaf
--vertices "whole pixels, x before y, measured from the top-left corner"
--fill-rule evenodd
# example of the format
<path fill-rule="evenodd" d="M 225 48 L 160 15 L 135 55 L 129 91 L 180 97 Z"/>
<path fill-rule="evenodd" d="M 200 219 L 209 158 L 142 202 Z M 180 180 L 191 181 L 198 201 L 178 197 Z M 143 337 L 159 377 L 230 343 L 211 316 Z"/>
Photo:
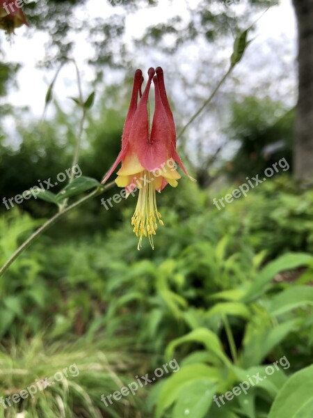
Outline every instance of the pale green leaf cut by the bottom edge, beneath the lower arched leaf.
<path fill-rule="evenodd" d="M 216 383 L 205 378 L 188 383 L 179 392 L 172 418 L 205 417 L 213 401 L 215 391 Z"/>

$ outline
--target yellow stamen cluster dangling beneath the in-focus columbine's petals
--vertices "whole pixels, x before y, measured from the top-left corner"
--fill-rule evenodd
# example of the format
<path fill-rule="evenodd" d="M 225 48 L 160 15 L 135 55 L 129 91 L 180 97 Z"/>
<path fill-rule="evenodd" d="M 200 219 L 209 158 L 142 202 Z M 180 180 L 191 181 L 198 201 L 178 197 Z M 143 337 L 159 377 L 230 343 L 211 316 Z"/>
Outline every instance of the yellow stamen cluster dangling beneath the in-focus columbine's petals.
<path fill-rule="evenodd" d="M 163 226 L 163 221 L 161 221 L 161 213 L 157 210 L 154 175 L 150 171 L 143 171 L 143 178 L 145 180 L 141 183 L 141 187 L 138 187 L 138 202 L 131 218 L 131 225 L 134 226 L 134 233 L 139 238 L 138 249 L 141 249 L 144 236 L 149 238 L 150 245 L 154 249 L 153 235 L 156 235 L 157 222 L 159 221 Z"/>

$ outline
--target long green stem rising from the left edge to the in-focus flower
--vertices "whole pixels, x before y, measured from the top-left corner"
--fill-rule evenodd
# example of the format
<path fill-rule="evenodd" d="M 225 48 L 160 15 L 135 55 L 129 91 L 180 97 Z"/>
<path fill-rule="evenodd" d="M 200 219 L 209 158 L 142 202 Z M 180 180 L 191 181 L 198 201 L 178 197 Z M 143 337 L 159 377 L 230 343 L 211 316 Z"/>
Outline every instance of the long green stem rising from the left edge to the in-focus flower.
<path fill-rule="evenodd" d="M 50 228 L 55 222 L 58 221 L 58 219 L 61 219 L 65 215 L 65 213 L 70 212 L 70 210 L 73 210 L 77 208 L 78 206 L 81 206 L 82 203 L 85 203 L 89 199 L 93 199 L 95 196 L 99 196 L 99 194 L 102 194 L 108 189 L 111 189 L 115 185 L 115 182 L 108 183 L 105 187 L 97 187 L 92 193 L 88 194 L 87 196 L 84 196 L 82 199 L 79 199 L 79 201 L 72 203 L 72 205 L 68 206 L 67 208 L 64 208 L 61 210 L 61 212 L 56 213 L 53 217 L 47 220 L 45 224 L 40 226 L 40 228 L 37 229 L 26 241 L 23 242 L 23 244 L 15 251 L 15 253 L 10 256 L 8 261 L 3 265 L 3 267 L 0 269 L 0 277 L 8 268 L 10 265 L 15 261 L 15 259 L 19 256 L 19 254 L 22 254 L 22 252 L 28 248 L 42 233 L 47 231 L 47 229 Z"/>

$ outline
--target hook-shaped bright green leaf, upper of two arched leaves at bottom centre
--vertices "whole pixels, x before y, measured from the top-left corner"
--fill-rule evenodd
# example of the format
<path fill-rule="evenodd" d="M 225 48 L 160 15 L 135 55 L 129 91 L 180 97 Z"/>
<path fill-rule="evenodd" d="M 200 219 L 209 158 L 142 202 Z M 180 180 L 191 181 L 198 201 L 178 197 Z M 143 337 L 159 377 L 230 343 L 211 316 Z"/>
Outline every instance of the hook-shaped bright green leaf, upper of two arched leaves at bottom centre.
<path fill-rule="evenodd" d="M 175 348 L 183 343 L 202 343 L 210 353 L 216 355 L 217 361 L 222 361 L 225 364 L 230 364 L 230 360 L 224 353 L 223 346 L 218 339 L 218 336 L 207 328 L 197 328 L 180 338 L 171 341 L 166 348 L 166 357 L 172 358 Z"/>

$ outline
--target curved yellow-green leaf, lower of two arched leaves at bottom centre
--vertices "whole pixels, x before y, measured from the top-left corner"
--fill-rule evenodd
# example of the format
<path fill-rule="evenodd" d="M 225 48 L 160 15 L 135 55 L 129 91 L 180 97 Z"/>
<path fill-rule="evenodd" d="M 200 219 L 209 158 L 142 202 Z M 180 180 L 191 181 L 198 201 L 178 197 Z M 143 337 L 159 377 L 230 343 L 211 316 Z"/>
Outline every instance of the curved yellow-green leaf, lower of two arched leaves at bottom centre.
<path fill-rule="evenodd" d="M 182 367 L 179 371 L 172 374 L 166 380 L 159 394 L 156 417 L 160 418 L 163 412 L 179 398 L 182 388 L 191 382 L 201 378 L 210 380 L 212 383 L 220 380 L 220 374 L 215 367 L 207 366 L 207 364 L 198 363 L 190 364 Z"/>

